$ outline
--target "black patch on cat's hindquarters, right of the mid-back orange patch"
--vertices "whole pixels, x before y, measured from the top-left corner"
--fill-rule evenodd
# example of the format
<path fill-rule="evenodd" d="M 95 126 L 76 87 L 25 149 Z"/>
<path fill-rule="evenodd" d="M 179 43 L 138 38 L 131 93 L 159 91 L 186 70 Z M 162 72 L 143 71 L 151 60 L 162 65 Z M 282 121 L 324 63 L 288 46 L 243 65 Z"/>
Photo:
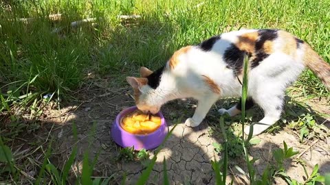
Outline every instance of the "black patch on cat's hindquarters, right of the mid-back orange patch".
<path fill-rule="evenodd" d="M 265 51 L 263 50 L 263 45 L 267 40 L 274 40 L 275 38 L 277 38 L 278 37 L 277 31 L 278 31 L 277 29 L 260 29 L 258 31 L 259 38 L 258 40 L 256 40 L 256 45 L 255 45 L 256 58 L 252 60 L 252 64 L 251 64 L 252 69 L 256 66 L 259 66 L 261 61 L 265 60 L 265 58 L 270 56 L 269 54 L 265 53 Z"/>

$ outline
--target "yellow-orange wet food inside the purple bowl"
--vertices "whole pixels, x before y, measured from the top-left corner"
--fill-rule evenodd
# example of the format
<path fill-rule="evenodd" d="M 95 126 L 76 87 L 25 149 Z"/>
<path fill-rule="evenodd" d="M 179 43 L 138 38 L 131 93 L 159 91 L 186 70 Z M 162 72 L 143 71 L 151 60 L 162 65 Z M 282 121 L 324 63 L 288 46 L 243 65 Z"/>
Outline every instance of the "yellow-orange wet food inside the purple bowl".
<path fill-rule="evenodd" d="M 144 114 L 140 110 L 135 110 L 122 118 L 120 126 L 131 134 L 149 134 L 160 127 L 159 116 Z"/>

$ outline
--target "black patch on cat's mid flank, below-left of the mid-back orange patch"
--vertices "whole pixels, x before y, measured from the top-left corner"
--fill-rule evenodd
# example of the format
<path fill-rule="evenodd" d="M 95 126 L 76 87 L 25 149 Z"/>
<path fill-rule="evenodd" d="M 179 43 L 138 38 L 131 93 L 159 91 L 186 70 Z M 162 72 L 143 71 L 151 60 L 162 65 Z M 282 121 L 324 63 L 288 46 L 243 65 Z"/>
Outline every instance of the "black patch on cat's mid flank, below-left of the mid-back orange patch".
<path fill-rule="evenodd" d="M 245 51 L 241 51 L 234 44 L 230 45 L 230 47 L 228 47 L 223 54 L 223 60 L 227 63 L 227 68 L 232 69 L 235 76 L 241 73 L 245 54 L 247 53 Z"/>

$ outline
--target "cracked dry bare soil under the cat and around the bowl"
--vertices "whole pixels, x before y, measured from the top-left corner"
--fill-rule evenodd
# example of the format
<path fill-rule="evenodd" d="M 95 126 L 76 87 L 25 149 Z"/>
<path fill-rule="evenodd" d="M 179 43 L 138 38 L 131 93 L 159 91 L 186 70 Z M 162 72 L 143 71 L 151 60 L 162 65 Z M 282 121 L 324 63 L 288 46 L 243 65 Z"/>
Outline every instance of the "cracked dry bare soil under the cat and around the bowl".
<path fill-rule="evenodd" d="M 84 95 L 78 96 L 79 101 L 75 105 L 67 106 L 59 111 L 47 110 L 44 112 L 47 116 L 43 121 L 56 125 L 52 132 L 52 135 L 56 137 L 53 162 L 61 167 L 69 158 L 72 146 L 76 143 L 72 136 L 72 123 L 75 123 L 78 130 L 78 164 L 76 165 L 78 167 L 74 170 L 81 171 L 83 153 L 88 152 L 91 159 L 99 153 L 94 176 L 114 175 L 115 178 L 111 184 L 120 184 L 125 174 L 126 184 L 134 184 L 146 167 L 141 162 L 115 160 L 120 152 L 120 147 L 113 142 L 109 134 L 109 127 L 111 127 L 115 116 L 122 109 L 134 105 L 134 101 L 127 94 L 130 92 L 129 89 L 122 89 L 120 93 L 102 89 L 87 89 L 86 92 Z M 325 113 L 329 113 L 327 102 L 323 108 L 326 110 Z M 162 112 L 168 122 L 169 130 L 174 126 L 173 117 L 170 116 L 173 115 L 174 111 L 177 115 L 183 114 L 184 119 L 186 119 L 194 110 L 184 106 L 181 101 L 173 101 L 165 105 Z M 212 121 L 209 120 L 207 117 L 199 127 L 195 128 L 186 127 L 184 123 L 177 125 L 173 135 L 170 136 L 157 156 L 148 184 L 162 184 L 164 158 L 166 158 L 170 184 L 214 184 L 211 160 L 219 160 L 221 156 L 214 151 L 212 143 L 223 143 L 223 140 L 219 136 L 210 134 L 209 125 Z M 329 119 L 325 122 L 329 125 Z M 94 132 L 91 131 L 93 127 L 95 128 Z M 276 134 L 261 134 L 258 137 L 262 141 L 250 148 L 250 154 L 259 158 L 254 164 L 259 174 L 263 173 L 267 164 L 274 161 L 272 160 L 272 150 L 278 147 L 283 148 L 283 140 L 289 147 L 294 147 L 300 153 L 303 152 L 300 158 L 306 161 L 306 169 L 309 174 L 315 164 L 319 164 L 321 174 L 330 172 L 329 137 L 325 140 L 318 140 L 317 143 L 303 144 L 299 142 L 298 136 L 287 129 Z M 153 150 L 150 152 L 150 158 L 152 158 Z M 234 184 L 244 184 L 244 177 L 239 175 L 240 173 L 234 168 L 235 165 L 247 171 L 243 156 L 230 159 L 227 179 L 233 179 Z M 300 182 L 305 180 L 306 175 L 301 164 L 291 160 L 285 163 L 285 167 L 287 174 L 294 179 Z M 274 184 L 285 184 L 285 182 L 276 178 Z"/>

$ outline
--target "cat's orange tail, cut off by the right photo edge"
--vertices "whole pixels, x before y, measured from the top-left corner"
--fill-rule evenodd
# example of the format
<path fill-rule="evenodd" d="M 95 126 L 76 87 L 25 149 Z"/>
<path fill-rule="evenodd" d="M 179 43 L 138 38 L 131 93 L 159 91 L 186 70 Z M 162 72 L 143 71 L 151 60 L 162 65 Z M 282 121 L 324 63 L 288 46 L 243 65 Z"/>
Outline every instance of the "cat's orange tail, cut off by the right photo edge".
<path fill-rule="evenodd" d="M 314 49 L 305 43 L 305 56 L 303 58 L 305 66 L 320 78 L 325 87 L 330 90 L 330 64 L 325 62 Z"/>

